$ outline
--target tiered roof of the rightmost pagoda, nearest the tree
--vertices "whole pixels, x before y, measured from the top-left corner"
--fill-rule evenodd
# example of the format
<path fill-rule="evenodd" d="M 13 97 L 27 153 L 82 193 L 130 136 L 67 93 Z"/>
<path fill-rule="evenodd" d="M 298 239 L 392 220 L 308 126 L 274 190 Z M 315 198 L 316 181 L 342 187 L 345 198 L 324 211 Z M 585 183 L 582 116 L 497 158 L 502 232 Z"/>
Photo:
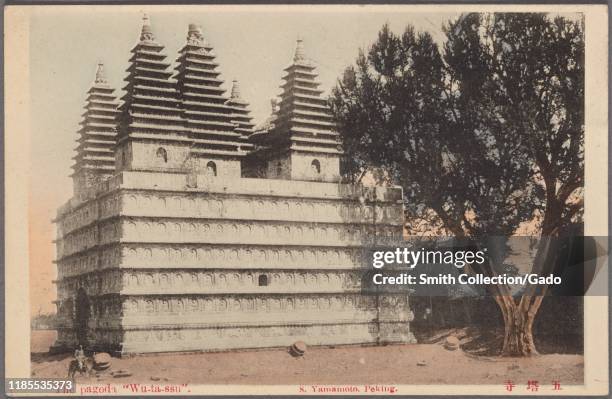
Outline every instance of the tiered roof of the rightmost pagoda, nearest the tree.
<path fill-rule="evenodd" d="M 258 132 L 254 141 L 308 153 L 342 154 L 339 135 L 327 100 L 321 97 L 316 66 L 306 59 L 302 40 L 298 39 L 293 63 L 285 68 L 285 81 L 274 126 Z M 274 143 L 279 144 L 274 144 Z"/>

